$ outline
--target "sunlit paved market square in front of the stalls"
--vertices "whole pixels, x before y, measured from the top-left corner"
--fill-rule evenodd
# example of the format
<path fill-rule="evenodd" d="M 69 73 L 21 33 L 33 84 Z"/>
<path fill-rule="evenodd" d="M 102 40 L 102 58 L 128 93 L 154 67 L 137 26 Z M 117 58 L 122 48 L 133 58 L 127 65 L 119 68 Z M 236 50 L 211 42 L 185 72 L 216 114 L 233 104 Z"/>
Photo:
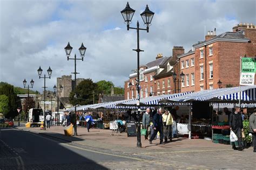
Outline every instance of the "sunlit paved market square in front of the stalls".
<path fill-rule="evenodd" d="M 130 161 L 100 164 L 107 168 L 255 169 L 256 154 L 252 147 L 234 151 L 231 145 L 214 144 L 204 139 L 175 138 L 165 145 L 159 145 L 159 139 L 156 139 L 150 145 L 142 136 L 142 148 L 138 148 L 137 137 L 127 137 L 125 132 L 112 133 L 106 129 L 91 129 L 87 132 L 86 128 L 77 128 L 76 137 L 64 136 L 62 126 L 51 126 L 46 130 L 19 127 L 17 130 L 60 140 L 73 148 L 134 160 L 134 166 L 131 166 Z"/>

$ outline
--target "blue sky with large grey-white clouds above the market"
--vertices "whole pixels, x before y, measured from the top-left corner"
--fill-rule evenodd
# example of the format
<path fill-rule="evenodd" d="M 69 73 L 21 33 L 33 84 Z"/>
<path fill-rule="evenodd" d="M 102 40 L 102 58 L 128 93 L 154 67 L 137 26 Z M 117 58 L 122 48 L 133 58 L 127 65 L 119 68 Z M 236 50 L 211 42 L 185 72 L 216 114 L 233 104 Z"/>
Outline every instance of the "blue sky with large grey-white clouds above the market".
<path fill-rule="evenodd" d="M 23 87 L 23 80 L 35 81 L 33 90 L 43 91 L 43 74 L 51 67 L 48 90 L 57 77 L 71 75 L 75 61 L 67 60 L 64 47 L 70 42 L 71 57 L 84 44 L 84 61 L 77 61 L 78 78 L 112 81 L 124 87 L 124 81 L 137 67 L 136 30 L 126 30 L 120 13 L 123 0 L 0 0 L 0 81 Z M 188 52 L 203 41 L 205 30 L 217 35 L 232 31 L 239 23 L 256 24 L 254 0 L 154 0 L 129 1 L 134 13 L 132 24 L 145 29 L 140 13 L 146 4 L 155 12 L 149 33 L 140 31 L 140 64 L 156 59 L 158 53 L 172 55 L 173 46 Z M 74 75 L 72 74 L 74 79 Z M 28 85 L 28 83 L 27 83 Z"/>

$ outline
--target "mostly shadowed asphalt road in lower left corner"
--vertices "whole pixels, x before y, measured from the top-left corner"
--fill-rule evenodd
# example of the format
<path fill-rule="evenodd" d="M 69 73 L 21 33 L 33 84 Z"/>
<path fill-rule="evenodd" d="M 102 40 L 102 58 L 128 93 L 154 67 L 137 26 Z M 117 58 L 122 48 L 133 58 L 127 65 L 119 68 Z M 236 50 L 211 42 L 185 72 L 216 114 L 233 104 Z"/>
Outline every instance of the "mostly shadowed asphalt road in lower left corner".
<path fill-rule="evenodd" d="M 107 169 L 100 162 L 132 161 L 69 146 L 38 134 L 0 130 L 0 169 Z"/>

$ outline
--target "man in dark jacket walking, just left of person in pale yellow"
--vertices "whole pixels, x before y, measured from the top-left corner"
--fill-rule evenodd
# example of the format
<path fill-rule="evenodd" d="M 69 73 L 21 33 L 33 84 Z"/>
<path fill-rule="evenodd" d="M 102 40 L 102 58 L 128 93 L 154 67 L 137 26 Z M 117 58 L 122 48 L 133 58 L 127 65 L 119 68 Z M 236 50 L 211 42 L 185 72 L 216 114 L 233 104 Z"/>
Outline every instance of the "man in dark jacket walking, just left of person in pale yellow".
<path fill-rule="evenodd" d="M 152 144 L 152 140 L 156 137 L 157 132 L 160 133 L 160 144 L 165 144 L 163 142 L 163 117 L 162 117 L 162 109 L 159 108 L 157 114 L 153 117 L 153 125 L 154 125 L 154 133 L 150 138 L 150 144 Z"/>

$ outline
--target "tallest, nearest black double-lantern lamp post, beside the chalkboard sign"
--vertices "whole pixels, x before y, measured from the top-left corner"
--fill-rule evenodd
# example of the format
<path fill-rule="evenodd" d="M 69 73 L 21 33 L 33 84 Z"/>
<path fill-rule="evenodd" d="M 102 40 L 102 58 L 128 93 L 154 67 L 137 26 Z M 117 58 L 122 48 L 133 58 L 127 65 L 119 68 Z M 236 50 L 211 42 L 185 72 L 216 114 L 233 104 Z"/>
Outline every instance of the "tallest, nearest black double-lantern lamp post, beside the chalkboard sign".
<path fill-rule="evenodd" d="M 139 52 L 143 51 L 139 48 L 139 30 L 145 30 L 149 32 L 149 26 L 151 25 L 152 18 L 154 16 L 154 12 L 149 10 L 149 6 L 146 5 L 146 9 L 144 12 L 140 14 L 142 16 L 143 22 L 146 25 L 146 29 L 139 28 L 139 21 L 137 21 L 137 27 L 130 27 L 132 22 L 132 17 L 134 15 L 135 10 L 130 8 L 129 3 L 127 2 L 124 10 L 121 11 L 122 16 L 124 18 L 124 22 L 127 24 L 127 30 L 134 29 L 137 30 L 137 49 L 132 49 L 137 52 L 137 106 L 138 106 L 138 129 L 137 129 L 137 147 L 142 147 L 142 142 L 140 139 L 140 106 L 139 106 Z"/>

